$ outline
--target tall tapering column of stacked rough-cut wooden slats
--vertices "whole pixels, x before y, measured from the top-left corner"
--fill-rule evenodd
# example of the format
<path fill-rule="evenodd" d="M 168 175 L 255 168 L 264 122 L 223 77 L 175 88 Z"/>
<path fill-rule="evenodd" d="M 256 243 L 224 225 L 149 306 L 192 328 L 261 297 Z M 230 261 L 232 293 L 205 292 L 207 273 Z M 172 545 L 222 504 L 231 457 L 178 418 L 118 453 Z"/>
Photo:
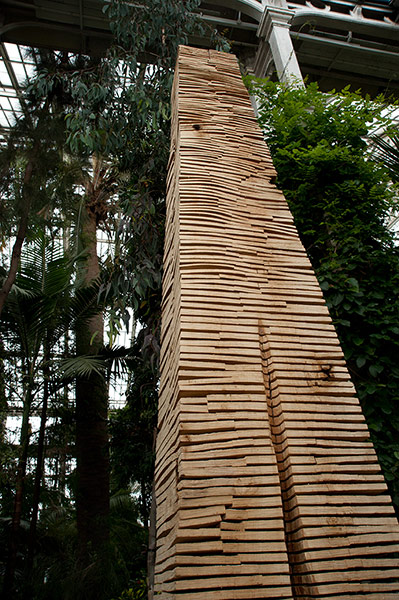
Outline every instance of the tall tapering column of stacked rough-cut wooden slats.
<path fill-rule="evenodd" d="M 394 600 L 398 522 L 274 175 L 236 59 L 182 47 L 165 245 L 156 597 Z"/>

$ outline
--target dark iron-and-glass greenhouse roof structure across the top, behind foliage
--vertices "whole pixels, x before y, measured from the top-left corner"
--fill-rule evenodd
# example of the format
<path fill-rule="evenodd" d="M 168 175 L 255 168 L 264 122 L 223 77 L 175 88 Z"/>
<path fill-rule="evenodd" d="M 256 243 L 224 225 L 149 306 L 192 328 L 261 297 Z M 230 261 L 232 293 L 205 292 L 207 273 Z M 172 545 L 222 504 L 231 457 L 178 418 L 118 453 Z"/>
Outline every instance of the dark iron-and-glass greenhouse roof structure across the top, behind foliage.
<path fill-rule="evenodd" d="M 21 86 L 34 70 L 28 47 L 102 55 L 111 40 L 106 1 L 2 0 L 0 137 L 23 111 Z M 325 91 L 352 83 L 371 95 L 399 95 L 399 0 L 203 0 L 200 12 L 251 70 L 265 47 L 257 37 L 259 22 L 273 6 L 292 12 L 290 35 L 308 81 Z"/>

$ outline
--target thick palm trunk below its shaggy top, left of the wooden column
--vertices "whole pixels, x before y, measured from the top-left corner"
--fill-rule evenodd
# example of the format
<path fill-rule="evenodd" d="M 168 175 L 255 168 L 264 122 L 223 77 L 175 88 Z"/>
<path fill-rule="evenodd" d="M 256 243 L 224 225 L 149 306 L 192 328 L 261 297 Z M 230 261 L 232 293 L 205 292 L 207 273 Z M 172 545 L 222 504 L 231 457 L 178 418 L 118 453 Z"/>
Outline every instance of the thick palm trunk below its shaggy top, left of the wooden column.
<path fill-rule="evenodd" d="M 83 243 L 88 251 L 85 283 L 99 276 L 96 218 L 88 211 L 83 226 Z M 103 316 L 98 313 L 76 331 L 76 352 L 98 354 L 103 346 Z M 76 510 L 80 554 L 85 561 L 90 551 L 98 552 L 109 539 L 108 390 L 98 374 L 76 381 Z"/>

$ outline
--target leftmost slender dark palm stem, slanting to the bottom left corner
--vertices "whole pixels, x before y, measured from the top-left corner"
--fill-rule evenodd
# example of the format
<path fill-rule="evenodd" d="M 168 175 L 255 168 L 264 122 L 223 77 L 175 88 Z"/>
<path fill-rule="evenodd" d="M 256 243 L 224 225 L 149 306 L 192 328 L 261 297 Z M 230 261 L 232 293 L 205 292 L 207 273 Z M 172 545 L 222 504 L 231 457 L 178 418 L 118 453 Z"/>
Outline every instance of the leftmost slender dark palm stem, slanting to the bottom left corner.
<path fill-rule="evenodd" d="M 12 592 L 13 592 L 13 588 L 14 588 L 15 569 L 17 566 L 18 536 L 19 536 L 20 525 L 21 525 L 22 500 L 23 500 L 23 494 L 24 494 L 26 465 L 27 465 L 27 460 L 28 460 L 28 449 L 29 449 L 29 438 L 30 438 L 29 415 L 30 415 L 31 401 L 32 401 L 31 385 L 29 383 L 27 390 L 26 390 L 25 398 L 24 398 L 24 410 L 23 410 L 23 415 L 22 415 L 21 437 L 20 437 L 20 459 L 18 462 L 16 492 L 15 492 L 15 499 L 14 499 L 14 511 L 13 511 L 13 516 L 12 516 L 10 536 L 9 536 L 7 565 L 6 565 L 5 575 L 4 575 L 4 582 L 3 582 L 3 597 L 4 598 L 12 598 Z"/>

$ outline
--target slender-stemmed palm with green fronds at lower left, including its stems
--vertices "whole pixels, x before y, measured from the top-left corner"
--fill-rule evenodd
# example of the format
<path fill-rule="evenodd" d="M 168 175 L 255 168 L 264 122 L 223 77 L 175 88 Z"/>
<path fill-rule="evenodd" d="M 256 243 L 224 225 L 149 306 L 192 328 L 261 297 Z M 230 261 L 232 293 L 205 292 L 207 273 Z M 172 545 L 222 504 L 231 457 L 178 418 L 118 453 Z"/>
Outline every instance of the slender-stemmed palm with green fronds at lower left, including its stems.
<path fill-rule="evenodd" d="M 71 327 L 78 322 L 84 324 L 98 310 L 98 286 L 76 290 L 73 281 L 75 270 L 76 260 L 64 253 L 59 241 L 49 239 L 43 233 L 38 234 L 23 252 L 20 270 L 0 322 L 8 346 L 21 357 L 19 387 L 22 398 L 18 471 L 4 579 L 5 597 L 9 597 L 13 589 L 17 566 L 32 410 L 35 404 L 41 404 L 28 561 L 25 565 L 28 570 L 36 538 L 48 403 L 55 390 L 66 384 L 62 381 L 60 369 L 62 340 Z"/>

